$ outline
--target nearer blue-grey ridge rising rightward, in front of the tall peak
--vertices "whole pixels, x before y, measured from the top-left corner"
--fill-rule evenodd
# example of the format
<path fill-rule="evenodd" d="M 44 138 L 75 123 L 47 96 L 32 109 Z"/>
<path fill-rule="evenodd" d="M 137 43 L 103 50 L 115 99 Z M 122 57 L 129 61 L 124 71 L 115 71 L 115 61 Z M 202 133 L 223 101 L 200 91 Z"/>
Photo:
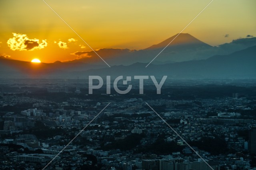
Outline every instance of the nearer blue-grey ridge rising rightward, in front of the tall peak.
<path fill-rule="evenodd" d="M 111 68 L 92 69 L 82 72 L 69 72 L 66 75 L 77 76 L 111 75 L 117 77 L 134 75 L 154 75 L 158 78 L 167 75 L 172 79 L 245 79 L 256 78 L 256 46 L 234 52 L 230 55 L 215 55 L 208 59 L 168 64 L 134 63 L 129 66 L 119 65 Z"/>

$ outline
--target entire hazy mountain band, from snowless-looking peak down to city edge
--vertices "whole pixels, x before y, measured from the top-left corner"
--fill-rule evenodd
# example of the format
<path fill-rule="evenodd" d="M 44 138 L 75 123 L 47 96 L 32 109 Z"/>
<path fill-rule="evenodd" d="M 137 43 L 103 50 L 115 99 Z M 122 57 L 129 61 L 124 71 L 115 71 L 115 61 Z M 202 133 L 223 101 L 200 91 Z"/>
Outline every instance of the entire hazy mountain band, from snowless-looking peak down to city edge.
<path fill-rule="evenodd" d="M 98 50 L 99 55 L 105 55 L 103 58 L 111 68 L 102 63 L 93 52 L 80 52 L 80 57 L 87 57 L 66 63 L 57 61 L 35 64 L 0 57 L 0 78 L 88 78 L 88 75 L 154 75 L 159 78 L 167 75 L 168 78 L 175 79 L 256 78 L 256 38 L 238 39 L 212 47 L 189 34 L 180 34 L 179 38 L 165 49 L 163 55 L 158 56 L 157 59 L 163 61 L 154 61 L 145 68 L 175 36 L 139 51 Z M 113 66 L 113 63 L 121 61 L 122 65 Z"/>

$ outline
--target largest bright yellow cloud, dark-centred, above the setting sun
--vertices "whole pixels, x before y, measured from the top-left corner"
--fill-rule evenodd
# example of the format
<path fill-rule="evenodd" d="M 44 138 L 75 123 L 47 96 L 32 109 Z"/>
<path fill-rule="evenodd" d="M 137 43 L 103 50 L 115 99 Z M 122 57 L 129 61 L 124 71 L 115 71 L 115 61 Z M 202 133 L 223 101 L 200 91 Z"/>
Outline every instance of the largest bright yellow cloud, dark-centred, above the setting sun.
<path fill-rule="evenodd" d="M 13 37 L 8 39 L 7 45 L 13 51 L 33 51 L 47 47 L 46 40 L 30 39 L 26 34 L 12 33 Z"/>

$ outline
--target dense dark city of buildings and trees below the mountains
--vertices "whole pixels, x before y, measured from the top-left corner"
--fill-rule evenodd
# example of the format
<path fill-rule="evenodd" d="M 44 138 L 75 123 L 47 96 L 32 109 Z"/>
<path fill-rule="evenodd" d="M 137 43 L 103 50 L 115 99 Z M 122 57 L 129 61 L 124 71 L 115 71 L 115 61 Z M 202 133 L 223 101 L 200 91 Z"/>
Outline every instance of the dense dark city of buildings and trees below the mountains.
<path fill-rule="evenodd" d="M 0 169 L 256 169 L 253 80 L 167 82 L 161 95 L 89 95 L 82 81 L 2 80 Z"/>

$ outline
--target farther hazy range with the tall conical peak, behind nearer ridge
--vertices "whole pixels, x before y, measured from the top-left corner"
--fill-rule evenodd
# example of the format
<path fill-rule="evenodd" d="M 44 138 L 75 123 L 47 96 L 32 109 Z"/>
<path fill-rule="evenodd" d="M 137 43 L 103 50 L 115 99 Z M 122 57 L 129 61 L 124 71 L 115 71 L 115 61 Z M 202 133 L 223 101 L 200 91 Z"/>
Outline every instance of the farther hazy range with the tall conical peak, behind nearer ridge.
<path fill-rule="evenodd" d="M 177 35 L 177 34 L 176 34 Z M 142 50 L 130 49 L 98 49 L 97 53 L 108 63 L 113 65 L 130 65 L 134 63 L 149 63 L 166 47 L 176 35 Z M 152 64 L 175 63 L 182 61 L 201 60 L 213 55 L 226 55 L 256 45 L 256 37 L 233 40 L 217 47 L 212 47 L 188 33 L 181 33 L 170 45 L 153 61 Z M 71 63 L 103 63 L 93 51 L 78 51 L 74 53 L 78 59 Z"/>

